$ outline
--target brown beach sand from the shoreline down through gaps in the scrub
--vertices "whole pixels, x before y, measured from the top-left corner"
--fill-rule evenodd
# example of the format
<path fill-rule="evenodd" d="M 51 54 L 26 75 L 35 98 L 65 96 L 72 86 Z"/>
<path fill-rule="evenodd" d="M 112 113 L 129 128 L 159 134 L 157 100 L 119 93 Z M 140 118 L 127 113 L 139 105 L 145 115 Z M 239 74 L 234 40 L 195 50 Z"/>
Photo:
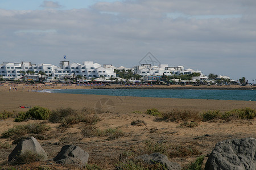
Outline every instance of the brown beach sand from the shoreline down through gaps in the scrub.
<path fill-rule="evenodd" d="M 146 109 L 156 108 L 161 112 L 170 111 L 171 109 L 189 109 L 196 111 L 220 110 L 230 111 L 231 109 L 249 107 L 256 109 L 256 101 L 232 101 L 232 100 L 199 100 L 199 99 L 167 99 L 167 98 L 150 98 L 150 97 L 117 97 L 117 96 L 100 96 L 100 95 L 77 95 L 77 94 L 49 94 L 40 92 L 28 92 L 27 88 L 16 86 L 17 91 L 9 87 L 0 87 L 0 112 L 2 111 L 27 111 L 29 108 L 19 108 L 19 106 L 34 107 L 36 105 L 49 108 L 82 109 L 100 108 L 110 112 L 99 114 L 101 121 L 95 126 L 99 129 L 118 128 L 125 132 L 125 137 L 112 141 L 106 140 L 106 137 L 84 138 L 81 135 L 82 123 L 73 125 L 70 128 L 60 131 L 59 124 L 51 126 L 47 132 L 48 139 L 39 140 L 44 150 L 46 150 L 49 159 L 52 159 L 64 145 L 77 145 L 88 151 L 90 154 L 89 163 L 98 164 L 103 169 L 114 169 L 118 162 L 119 155 L 126 150 L 136 147 L 142 147 L 146 140 L 164 141 L 172 146 L 194 146 L 201 155 L 210 154 L 214 145 L 224 139 L 231 138 L 256 138 L 256 120 L 235 120 L 230 122 L 213 121 L 200 122 L 195 128 L 180 128 L 180 122 L 156 121 L 154 116 L 144 113 Z M 32 88 L 35 90 L 35 87 Z M 53 88 L 53 87 L 48 87 Z M 60 87 L 54 87 L 60 88 Z M 66 88 L 66 87 L 61 87 Z M 84 88 L 84 87 L 67 87 L 67 88 Z M 109 105 L 100 102 L 109 101 Z M 102 105 L 101 105 L 102 104 Z M 143 120 L 146 126 L 131 126 L 131 121 Z M 28 120 L 17 123 L 13 118 L 0 121 L 0 133 L 14 125 L 28 124 L 32 122 L 42 122 L 38 120 Z M 152 129 L 156 129 L 152 132 Z M 54 136 L 50 138 L 49 136 Z M 208 136 L 205 136 L 208 135 Z M 63 139 L 65 137 L 65 139 Z M 0 142 L 13 142 L 10 139 L 0 139 Z M 57 143 L 57 144 L 56 144 Z M 5 164 L 7 156 L 10 154 L 15 145 L 10 149 L 0 149 L 0 162 Z M 171 158 L 172 162 L 177 162 L 181 166 L 188 165 L 196 160 L 199 155 L 185 156 L 185 158 Z M 204 160 L 204 164 L 207 157 Z M 22 165 L 21 168 L 35 168 L 39 165 L 49 168 L 70 169 L 70 167 L 61 167 L 54 162 L 47 164 L 44 162 Z M 8 167 L 8 165 L 5 165 Z"/>

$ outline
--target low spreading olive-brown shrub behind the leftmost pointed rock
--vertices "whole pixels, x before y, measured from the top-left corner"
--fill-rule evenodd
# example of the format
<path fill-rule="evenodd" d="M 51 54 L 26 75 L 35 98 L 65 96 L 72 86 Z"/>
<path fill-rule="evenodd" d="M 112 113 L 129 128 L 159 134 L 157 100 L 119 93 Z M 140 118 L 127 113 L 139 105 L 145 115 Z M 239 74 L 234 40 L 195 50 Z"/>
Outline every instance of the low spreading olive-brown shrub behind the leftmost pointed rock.
<path fill-rule="evenodd" d="M 18 138 L 25 134 L 42 134 L 45 131 L 48 131 L 50 128 L 46 124 L 27 124 L 27 125 L 18 125 L 14 128 L 10 128 L 7 131 L 3 132 L 1 138 Z"/>

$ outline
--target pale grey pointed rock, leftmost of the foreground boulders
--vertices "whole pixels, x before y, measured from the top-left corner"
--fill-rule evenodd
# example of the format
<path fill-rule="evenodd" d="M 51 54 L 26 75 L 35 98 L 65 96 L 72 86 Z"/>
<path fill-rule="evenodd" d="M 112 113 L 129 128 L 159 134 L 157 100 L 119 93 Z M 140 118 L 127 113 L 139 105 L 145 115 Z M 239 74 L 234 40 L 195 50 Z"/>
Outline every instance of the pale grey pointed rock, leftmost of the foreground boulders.
<path fill-rule="evenodd" d="M 41 155 L 41 158 L 43 160 L 47 159 L 46 151 L 44 151 L 44 149 L 42 148 L 38 140 L 36 140 L 36 138 L 34 137 L 30 137 L 18 143 L 18 145 L 14 148 L 14 150 L 8 156 L 8 162 L 11 162 L 12 160 L 18 158 L 20 154 L 24 154 L 27 151 L 33 154 Z"/>

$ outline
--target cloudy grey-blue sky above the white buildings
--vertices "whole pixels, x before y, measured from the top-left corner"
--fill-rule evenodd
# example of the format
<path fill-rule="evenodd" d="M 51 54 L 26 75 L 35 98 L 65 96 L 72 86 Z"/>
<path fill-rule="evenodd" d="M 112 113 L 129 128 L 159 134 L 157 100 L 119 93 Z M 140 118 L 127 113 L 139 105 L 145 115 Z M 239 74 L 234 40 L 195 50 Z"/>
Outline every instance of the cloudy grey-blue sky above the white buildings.
<path fill-rule="evenodd" d="M 0 63 L 157 62 L 256 83 L 255 0 L 0 0 Z M 150 56 L 149 56 L 150 57 Z"/>

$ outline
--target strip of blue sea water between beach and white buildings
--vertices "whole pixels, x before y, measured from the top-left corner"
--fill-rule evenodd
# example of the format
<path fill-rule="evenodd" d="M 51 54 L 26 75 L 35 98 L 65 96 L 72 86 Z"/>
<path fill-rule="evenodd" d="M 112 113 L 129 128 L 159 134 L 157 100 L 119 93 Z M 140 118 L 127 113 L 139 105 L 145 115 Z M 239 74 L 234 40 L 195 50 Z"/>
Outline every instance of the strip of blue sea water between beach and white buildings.
<path fill-rule="evenodd" d="M 77 89 L 46 90 L 60 94 L 164 97 L 179 99 L 214 99 L 256 101 L 256 90 L 170 90 L 170 89 Z"/>

